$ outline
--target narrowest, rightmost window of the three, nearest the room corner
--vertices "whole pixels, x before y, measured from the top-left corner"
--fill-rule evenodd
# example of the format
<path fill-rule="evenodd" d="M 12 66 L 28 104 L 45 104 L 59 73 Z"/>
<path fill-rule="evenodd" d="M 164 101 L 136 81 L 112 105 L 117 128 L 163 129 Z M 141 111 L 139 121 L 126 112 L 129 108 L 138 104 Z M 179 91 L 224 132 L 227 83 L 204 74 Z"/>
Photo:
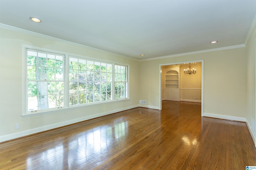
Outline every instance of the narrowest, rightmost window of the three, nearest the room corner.
<path fill-rule="evenodd" d="M 115 65 L 115 99 L 128 97 L 127 66 Z"/>

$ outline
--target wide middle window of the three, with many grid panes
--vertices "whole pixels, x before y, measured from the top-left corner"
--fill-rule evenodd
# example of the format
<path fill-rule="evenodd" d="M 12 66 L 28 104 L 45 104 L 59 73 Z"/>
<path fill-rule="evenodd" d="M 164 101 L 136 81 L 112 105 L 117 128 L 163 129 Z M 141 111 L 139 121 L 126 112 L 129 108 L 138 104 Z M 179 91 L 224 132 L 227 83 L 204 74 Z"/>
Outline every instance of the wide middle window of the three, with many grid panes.
<path fill-rule="evenodd" d="M 112 64 L 69 58 L 69 104 L 112 100 Z"/>

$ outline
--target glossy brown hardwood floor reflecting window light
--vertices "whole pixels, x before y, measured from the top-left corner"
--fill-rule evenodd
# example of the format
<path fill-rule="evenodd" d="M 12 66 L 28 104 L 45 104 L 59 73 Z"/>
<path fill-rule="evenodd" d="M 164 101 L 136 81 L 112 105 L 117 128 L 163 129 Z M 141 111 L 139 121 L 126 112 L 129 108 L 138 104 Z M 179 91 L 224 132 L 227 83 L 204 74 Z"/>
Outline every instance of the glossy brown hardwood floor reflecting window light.
<path fill-rule="evenodd" d="M 0 143 L 0 169 L 245 170 L 256 166 L 246 124 L 163 101 Z"/>

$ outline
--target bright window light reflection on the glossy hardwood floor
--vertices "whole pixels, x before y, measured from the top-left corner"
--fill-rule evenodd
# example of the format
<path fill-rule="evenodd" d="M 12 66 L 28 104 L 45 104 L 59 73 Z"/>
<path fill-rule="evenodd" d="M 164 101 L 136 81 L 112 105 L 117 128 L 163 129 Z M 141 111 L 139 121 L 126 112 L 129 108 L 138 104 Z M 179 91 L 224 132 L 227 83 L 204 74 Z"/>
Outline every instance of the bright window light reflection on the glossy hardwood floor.
<path fill-rule="evenodd" d="M 36 156 L 38 168 L 47 165 L 56 169 L 62 169 L 64 166 L 72 169 L 76 164 L 84 164 L 90 160 L 95 161 L 97 153 L 102 155 L 103 152 L 108 152 L 108 147 L 112 147 L 113 141 L 123 140 L 127 132 L 127 121 L 119 121 L 112 126 L 100 126 L 77 134 L 78 137 L 74 137 L 74 140 L 68 143 L 60 143 L 54 148 L 38 152 L 38 156 Z M 64 153 L 65 150 L 68 154 Z M 28 169 L 35 168 L 32 166 L 35 163 L 34 160 L 34 157 L 28 156 L 26 160 Z M 99 160 L 102 161 L 102 159 Z M 65 165 L 64 162 L 68 162 L 68 165 Z M 98 162 L 98 164 L 100 163 L 102 162 Z"/>

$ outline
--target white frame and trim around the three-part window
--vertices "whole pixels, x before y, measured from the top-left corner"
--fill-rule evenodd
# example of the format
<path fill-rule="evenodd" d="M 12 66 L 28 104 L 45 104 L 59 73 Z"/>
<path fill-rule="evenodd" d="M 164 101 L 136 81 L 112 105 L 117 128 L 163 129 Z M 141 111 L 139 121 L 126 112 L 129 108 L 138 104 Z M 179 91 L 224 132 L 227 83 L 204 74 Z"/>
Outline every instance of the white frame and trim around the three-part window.
<path fill-rule="evenodd" d="M 48 109 L 41 109 L 41 110 L 36 110 L 36 111 L 28 111 L 28 84 L 27 84 L 27 49 L 31 51 L 42 51 L 44 53 L 54 53 L 54 54 L 59 54 L 64 56 L 64 64 L 63 64 L 63 73 L 64 73 L 64 106 L 59 107 L 59 108 L 48 108 Z M 106 101 L 100 101 L 100 102 L 92 102 L 92 103 L 85 103 L 85 104 L 77 104 L 77 105 L 70 105 L 69 103 L 69 60 L 71 58 L 77 58 L 77 59 L 82 59 L 86 61 L 94 61 L 94 62 L 99 62 L 99 63 L 106 63 L 106 64 L 111 64 L 112 65 L 112 99 L 111 100 L 106 100 Z M 126 98 L 120 98 L 120 99 L 115 99 L 115 65 L 120 65 L 120 66 L 126 66 L 127 67 L 127 97 Z M 50 50 L 50 49 L 43 49 L 39 47 L 33 47 L 33 46 L 28 46 L 28 45 L 23 45 L 23 57 L 22 57 L 22 117 L 27 117 L 31 115 L 40 115 L 40 114 L 45 114 L 45 113 L 53 113 L 56 111 L 61 111 L 64 109 L 74 109 L 78 107 L 86 107 L 86 106 L 92 106 L 92 105 L 98 105 L 98 104 L 106 104 L 109 102 L 117 102 L 121 100 L 128 100 L 129 94 L 130 94 L 130 89 L 129 89 L 129 78 L 130 78 L 130 65 L 129 64 L 123 64 L 123 63 L 116 63 L 113 61 L 107 61 L 107 60 L 101 60 L 101 59 L 95 59 L 91 57 L 86 57 L 86 56 L 81 56 L 81 55 L 75 55 L 71 53 L 65 53 L 61 51 L 55 51 L 55 50 Z"/>

